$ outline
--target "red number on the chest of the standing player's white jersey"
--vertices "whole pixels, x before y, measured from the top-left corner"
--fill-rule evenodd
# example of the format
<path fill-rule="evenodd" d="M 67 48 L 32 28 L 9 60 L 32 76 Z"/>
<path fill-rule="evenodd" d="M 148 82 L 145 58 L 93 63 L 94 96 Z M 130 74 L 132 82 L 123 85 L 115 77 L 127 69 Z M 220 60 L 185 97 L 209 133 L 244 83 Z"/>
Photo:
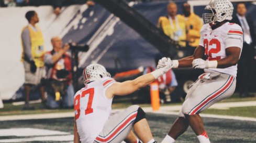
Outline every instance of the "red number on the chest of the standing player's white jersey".
<path fill-rule="evenodd" d="M 216 45 L 216 48 L 212 48 L 210 50 L 209 49 L 209 46 L 212 46 L 212 45 Z M 212 40 L 210 40 L 210 42 L 208 41 L 208 39 L 205 39 L 204 40 L 204 46 L 205 46 L 205 55 L 207 57 L 207 59 L 209 60 L 219 60 L 220 59 L 220 56 L 217 56 L 216 58 L 213 58 L 212 54 L 217 54 L 219 53 L 220 51 L 220 42 L 213 38 Z"/>

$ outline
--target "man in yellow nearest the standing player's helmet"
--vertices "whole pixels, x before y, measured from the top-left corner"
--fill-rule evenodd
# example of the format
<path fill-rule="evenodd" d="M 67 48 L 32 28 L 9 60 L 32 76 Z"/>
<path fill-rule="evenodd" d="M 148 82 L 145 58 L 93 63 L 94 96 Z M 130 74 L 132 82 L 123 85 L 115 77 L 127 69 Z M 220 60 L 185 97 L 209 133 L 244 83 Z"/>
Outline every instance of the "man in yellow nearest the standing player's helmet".
<path fill-rule="evenodd" d="M 203 22 L 199 16 L 195 15 L 194 12 L 191 12 L 191 8 L 188 3 L 183 4 L 182 10 L 186 23 L 187 42 L 191 50 L 191 54 L 193 54 L 200 41 L 200 30 L 203 26 Z"/>

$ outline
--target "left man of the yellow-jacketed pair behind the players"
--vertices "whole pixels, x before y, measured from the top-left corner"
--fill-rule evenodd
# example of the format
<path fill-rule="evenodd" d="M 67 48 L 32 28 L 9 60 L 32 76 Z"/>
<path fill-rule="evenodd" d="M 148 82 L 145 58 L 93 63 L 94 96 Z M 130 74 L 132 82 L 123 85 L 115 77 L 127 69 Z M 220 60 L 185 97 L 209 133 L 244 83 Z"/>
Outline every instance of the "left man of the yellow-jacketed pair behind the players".
<path fill-rule="evenodd" d="M 180 46 L 186 46 L 186 27 L 184 17 L 177 15 L 177 5 L 171 2 L 167 6 L 168 16 L 162 16 L 158 20 L 158 28 L 172 40 L 178 41 Z"/>

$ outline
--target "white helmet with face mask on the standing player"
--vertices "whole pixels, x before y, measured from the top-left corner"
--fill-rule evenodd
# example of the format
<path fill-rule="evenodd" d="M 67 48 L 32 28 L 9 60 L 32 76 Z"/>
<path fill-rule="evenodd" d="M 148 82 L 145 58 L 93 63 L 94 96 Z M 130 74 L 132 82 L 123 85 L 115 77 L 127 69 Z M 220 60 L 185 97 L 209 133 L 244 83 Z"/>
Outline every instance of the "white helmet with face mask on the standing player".
<path fill-rule="evenodd" d="M 205 7 L 209 10 L 208 14 L 203 14 L 204 23 L 221 22 L 224 20 L 231 20 L 233 15 L 233 5 L 228 0 L 212 0 Z"/>

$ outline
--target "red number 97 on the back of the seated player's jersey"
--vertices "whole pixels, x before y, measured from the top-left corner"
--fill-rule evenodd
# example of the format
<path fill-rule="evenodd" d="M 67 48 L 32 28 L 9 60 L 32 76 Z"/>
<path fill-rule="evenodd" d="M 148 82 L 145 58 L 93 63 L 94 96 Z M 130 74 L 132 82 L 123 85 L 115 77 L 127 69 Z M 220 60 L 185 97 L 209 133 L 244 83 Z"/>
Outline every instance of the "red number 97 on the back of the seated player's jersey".
<path fill-rule="evenodd" d="M 94 96 L 94 88 L 86 89 L 82 92 L 81 95 L 77 95 L 74 100 L 74 111 L 75 111 L 75 120 L 79 119 L 80 116 L 80 98 L 85 97 L 86 95 L 89 95 L 87 108 L 84 112 L 84 114 L 90 114 L 93 113 L 92 103 L 93 103 L 93 96 Z"/>

